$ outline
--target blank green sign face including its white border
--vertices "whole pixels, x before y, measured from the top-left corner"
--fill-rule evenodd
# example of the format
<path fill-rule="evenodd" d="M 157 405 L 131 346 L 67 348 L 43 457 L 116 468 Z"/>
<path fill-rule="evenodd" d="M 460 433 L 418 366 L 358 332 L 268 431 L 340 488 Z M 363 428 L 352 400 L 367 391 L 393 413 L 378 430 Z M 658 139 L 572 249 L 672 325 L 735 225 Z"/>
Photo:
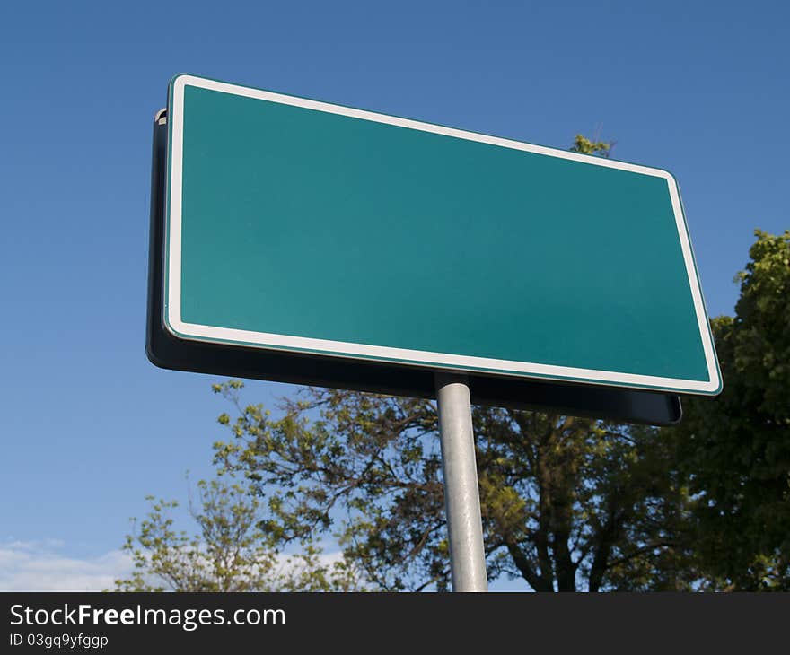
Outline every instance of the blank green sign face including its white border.
<path fill-rule="evenodd" d="M 721 388 L 664 170 L 188 75 L 168 122 L 176 336 Z"/>

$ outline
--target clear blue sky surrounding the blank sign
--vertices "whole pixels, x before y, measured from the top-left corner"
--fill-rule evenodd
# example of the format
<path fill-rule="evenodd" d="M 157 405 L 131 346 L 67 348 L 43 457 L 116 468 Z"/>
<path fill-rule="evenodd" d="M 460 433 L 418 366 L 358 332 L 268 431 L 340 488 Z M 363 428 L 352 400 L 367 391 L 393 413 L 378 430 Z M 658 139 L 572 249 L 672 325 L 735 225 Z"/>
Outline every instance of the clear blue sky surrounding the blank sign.
<path fill-rule="evenodd" d="M 119 7 L 0 8 L 0 588 L 47 557 L 90 587 L 80 563 L 115 563 L 145 494 L 183 498 L 224 436 L 217 380 L 144 352 L 151 123 L 173 74 L 557 147 L 600 130 L 679 179 L 712 315 L 733 311 L 752 231 L 790 226 L 786 3 Z"/>

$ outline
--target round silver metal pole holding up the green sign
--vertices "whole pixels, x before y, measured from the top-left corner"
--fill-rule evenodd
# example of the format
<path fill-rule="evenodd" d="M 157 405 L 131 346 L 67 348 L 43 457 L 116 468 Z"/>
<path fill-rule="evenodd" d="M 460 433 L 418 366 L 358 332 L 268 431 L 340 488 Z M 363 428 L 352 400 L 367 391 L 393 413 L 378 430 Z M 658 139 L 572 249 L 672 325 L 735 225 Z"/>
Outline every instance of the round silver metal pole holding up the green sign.
<path fill-rule="evenodd" d="M 465 375 L 435 374 L 453 591 L 487 591 L 472 407 Z"/>

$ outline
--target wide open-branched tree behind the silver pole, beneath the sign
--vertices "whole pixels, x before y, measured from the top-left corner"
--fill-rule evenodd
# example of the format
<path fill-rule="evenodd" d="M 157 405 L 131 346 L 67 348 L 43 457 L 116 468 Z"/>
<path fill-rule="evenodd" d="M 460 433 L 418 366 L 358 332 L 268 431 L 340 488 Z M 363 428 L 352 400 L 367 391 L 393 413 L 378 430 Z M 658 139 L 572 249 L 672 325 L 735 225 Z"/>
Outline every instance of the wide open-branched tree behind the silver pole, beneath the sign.
<path fill-rule="evenodd" d="M 374 588 L 447 589 L 434 401 L 307 389 L 273 419 L 215 385 L 238 416 L 224 472 L 268 495 L 262 528 L 287 543 L 333 531 Z M 652 428 L 492 407 L 473 412 L 489 576 L 532 589 L 687 589 L 687 502 Z"/>

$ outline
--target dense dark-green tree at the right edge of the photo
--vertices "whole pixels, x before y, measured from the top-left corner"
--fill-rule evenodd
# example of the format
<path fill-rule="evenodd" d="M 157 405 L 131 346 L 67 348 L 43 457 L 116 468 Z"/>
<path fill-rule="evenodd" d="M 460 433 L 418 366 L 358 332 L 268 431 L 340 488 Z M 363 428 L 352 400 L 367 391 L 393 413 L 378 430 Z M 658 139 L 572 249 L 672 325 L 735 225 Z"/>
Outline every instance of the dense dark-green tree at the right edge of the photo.
<path fill-rule="evenodd" d="M 712 321 L 724 390 L 674 428 L 715 589 L 790 590 L 790 231 L 756 231 L 735 316 Z"/>

